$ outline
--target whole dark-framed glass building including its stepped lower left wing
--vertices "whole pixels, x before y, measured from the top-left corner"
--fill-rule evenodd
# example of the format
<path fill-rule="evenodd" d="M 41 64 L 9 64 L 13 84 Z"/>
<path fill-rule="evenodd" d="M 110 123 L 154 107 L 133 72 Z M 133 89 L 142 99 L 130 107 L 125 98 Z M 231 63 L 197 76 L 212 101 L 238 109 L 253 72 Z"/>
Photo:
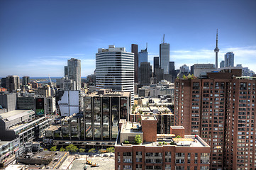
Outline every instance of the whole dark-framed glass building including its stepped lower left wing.
<path fill-rule="evenodd" d="M 129 119 L 130 92 L 103 89 L 84 97 L 84 114 L 61 119 L 48 128 L 45 137 L 53 140 L 116 140 L 118 121 Z"/>

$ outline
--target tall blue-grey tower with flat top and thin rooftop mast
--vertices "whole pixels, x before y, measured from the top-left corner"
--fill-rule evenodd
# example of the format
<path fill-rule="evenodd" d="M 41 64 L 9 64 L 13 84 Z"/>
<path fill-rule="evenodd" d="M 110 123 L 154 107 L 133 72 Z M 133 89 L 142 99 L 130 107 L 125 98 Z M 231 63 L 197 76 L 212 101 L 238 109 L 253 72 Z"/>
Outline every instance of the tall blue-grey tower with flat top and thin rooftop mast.
<path fill-rule="evenodd" d="M 165 43 L 165 34 L 163 42 L 159 45 L 160 67 L 164 69 L 164 74 L 169 74 L 169 43 Z"/>

